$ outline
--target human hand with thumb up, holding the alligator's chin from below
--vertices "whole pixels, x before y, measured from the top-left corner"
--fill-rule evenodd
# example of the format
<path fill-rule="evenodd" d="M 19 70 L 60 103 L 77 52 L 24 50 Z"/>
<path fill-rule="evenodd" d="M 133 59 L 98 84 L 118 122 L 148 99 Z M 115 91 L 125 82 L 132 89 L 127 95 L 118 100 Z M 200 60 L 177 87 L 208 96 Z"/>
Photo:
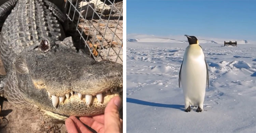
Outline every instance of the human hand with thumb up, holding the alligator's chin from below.
<path fill-rule="evenodd" d="M 106 106 L 104 114 L 82 116 L 79 119 L 75 116 L 70 116 L 65 120 L 68 133 L 92 133 L 85 125 L 98 133 L 122 133 L 123 120 L 120 119 L 118 112 L 120 103 L 121 98 L 115 96 Z"/>

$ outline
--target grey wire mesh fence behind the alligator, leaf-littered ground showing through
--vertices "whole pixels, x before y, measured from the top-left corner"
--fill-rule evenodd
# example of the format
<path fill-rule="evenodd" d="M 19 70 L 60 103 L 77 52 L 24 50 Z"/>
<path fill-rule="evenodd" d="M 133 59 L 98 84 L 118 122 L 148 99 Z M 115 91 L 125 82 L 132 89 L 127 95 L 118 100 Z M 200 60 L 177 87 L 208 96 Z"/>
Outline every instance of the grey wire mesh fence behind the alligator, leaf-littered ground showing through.
<path fill-rule="evenodd" d="M 91 57 L 123 63 L 123 1 L 67 0 L 65 8 Z"/>

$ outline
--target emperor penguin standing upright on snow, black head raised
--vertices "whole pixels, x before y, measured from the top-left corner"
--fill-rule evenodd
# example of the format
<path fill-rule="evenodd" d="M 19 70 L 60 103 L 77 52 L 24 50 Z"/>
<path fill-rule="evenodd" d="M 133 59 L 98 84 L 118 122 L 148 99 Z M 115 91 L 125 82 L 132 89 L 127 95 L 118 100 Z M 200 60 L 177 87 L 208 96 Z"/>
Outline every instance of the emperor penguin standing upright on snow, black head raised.
<path fill-rule="evenodd" d="M 190 106 L 198 106 L 196 112 L 203 111 L 206 84 L 209 88 L 208 67 L 202 47 L 195 36 L 185 35 L 189 45 L 183 56 L 179 74 L 179 87 L 182 85 L 185 98 L 185 112 Z"/>

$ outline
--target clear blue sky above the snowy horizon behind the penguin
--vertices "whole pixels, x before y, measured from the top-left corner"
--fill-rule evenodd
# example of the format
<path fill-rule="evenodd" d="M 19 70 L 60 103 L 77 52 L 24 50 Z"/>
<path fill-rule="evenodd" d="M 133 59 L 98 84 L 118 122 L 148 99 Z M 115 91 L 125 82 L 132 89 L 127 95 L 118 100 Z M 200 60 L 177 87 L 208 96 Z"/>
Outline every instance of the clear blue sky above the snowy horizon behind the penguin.
<path fill-rule="evenodd" d="M 256 40 L 256 1 L 127 0 L 127 34 Z"/>

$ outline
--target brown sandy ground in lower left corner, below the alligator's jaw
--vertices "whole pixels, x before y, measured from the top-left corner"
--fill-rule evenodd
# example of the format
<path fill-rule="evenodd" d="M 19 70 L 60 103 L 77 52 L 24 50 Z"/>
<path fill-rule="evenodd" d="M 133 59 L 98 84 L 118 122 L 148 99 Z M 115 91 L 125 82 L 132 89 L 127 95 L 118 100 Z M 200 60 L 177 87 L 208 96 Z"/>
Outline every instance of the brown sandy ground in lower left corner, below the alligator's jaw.
<path fill-rule="evenodd" d="M 14 107 L 10 102 L 0 98 L 2 118 L 1 133 L 66 133 L 64 124 L 54 124 L 44 120 L 40 113 Z"/>

